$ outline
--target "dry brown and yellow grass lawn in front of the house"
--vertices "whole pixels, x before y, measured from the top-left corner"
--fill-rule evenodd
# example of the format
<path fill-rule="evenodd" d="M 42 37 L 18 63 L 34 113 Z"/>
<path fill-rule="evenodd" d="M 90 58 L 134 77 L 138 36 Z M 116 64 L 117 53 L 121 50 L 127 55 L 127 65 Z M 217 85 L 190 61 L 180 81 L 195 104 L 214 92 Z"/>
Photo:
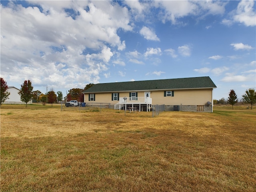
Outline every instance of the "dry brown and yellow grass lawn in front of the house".
<path fill-rule="evenodd" d="M 256 110 L 1 107 L 2 192 L 255 191 Z"/>

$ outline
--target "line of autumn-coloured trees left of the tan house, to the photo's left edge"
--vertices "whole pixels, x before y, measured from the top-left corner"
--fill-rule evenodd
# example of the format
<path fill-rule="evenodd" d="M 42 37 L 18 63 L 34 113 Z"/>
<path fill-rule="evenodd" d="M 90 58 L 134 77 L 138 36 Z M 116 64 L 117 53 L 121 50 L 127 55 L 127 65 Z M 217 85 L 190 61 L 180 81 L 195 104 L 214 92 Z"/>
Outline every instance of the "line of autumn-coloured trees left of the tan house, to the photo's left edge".
<path fill-rule="evenodd" d="M 8 92 L 8 85 L 4 78 L 0 78 L 1 83 L 1 93 L 0 93 L 0 104 L 9 98 L 10 92 Z M 87 84 L 84 89 L 73 88 L 68 91 L 67 96 L 63 97 L 61 91 L 58 91 L 57 94 L 54 92 L 54 89 L 51 88 L 50 91 L 43 94 L 41 91 L 33 90 L 32 82 L 30 80 L 24 80 L 23 84 L 20 87 L 20 91 L 18 94 L 20 95 L 20 100 L 22 102 L 27 103 L 32 100 L 32 102 L 41 102 L 43 105 L 46 103 L 54 104 L 60 103 L 61 101 L 70 101 L 70 100 L 78 100 L 78 102 L 84 102 L 84 94 L 82 94 L 83 90 L 86 90 L 92 87 L 94 84 Z"/>

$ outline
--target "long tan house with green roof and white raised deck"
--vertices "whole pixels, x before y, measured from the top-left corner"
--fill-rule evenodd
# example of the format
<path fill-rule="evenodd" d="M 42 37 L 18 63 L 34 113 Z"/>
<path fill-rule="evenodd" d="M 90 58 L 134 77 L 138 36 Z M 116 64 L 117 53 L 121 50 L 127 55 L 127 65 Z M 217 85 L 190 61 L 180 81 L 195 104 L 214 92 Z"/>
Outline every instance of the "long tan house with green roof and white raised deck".
<path fill-rule="evenodd" d="M 86 103 L 111 103 L 119 110 L 132 107 L 148 111 L 158 104 L 166 111 L 212 112 L 213 88 L 217 87 L 207 76 L 100 83 L 82 93 Z"/>

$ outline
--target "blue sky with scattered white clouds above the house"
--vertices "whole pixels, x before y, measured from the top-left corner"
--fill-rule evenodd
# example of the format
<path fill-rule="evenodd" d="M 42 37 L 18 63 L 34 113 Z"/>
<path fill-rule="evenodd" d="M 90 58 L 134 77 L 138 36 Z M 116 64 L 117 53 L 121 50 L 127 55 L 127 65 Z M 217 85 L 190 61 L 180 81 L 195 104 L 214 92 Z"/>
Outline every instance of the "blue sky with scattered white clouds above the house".
<path fill-rule="evenodd" d="M 256 89 L 256 2 L 2 1 L 0 76 L 64 96 L 87 84 L 210 76 Z"/>

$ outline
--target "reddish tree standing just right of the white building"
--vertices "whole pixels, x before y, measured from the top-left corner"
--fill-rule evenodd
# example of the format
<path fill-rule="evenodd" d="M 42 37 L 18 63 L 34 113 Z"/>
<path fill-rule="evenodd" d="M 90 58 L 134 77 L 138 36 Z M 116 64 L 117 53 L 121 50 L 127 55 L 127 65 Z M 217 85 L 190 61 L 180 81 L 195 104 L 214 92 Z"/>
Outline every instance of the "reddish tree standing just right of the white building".
<path fill-rule="evenodd" d="M 33 97 L 33 86 L 30 80 L 24 80 L 24 83 L 21 85 L 18 94 L 20 94 L 20 100 L 22 102 L 25 102 L 27 107 L 27 103 Z"/>

